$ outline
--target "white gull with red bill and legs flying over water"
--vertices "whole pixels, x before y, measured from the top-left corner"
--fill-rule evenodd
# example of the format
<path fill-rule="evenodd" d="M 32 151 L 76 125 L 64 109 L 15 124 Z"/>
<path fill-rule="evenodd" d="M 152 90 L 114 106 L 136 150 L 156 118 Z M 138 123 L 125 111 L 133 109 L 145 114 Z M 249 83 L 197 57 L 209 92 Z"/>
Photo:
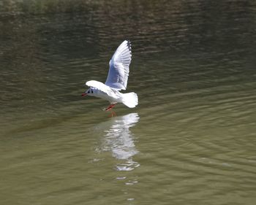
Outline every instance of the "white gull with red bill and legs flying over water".
<path fill-rule="evenodd" d="M 110 68 L 105 84 L 96 80 L 87 81 L 86 85 L 90 88 L 82 96 L 94 96 L 108 100 L 110 106 L 105 110 L 112 109 L 117 103 L 123 103 L 130 108 L 136 107 L 138 105 L 138 96 L 136 93 L 119 92 L 119 90 L 127 89 L 129 64 L 131 61 L 131 43 L 125 40 L 119 45 L 109 62 Z"/>

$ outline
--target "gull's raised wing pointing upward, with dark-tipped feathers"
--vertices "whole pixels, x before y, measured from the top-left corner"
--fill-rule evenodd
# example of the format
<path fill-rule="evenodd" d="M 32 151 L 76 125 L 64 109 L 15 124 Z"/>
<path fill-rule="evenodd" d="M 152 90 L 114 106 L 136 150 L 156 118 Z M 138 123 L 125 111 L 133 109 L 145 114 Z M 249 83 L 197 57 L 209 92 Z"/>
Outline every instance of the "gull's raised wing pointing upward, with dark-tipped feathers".
<path fill-rule="evenodd" d="M 129 63 L 132 61 L 132 47 L 127 40 L 121 43 L 111 58 L 108 78 L 105 85 L 116 90 L 126 90 L 129 76 Z"/>

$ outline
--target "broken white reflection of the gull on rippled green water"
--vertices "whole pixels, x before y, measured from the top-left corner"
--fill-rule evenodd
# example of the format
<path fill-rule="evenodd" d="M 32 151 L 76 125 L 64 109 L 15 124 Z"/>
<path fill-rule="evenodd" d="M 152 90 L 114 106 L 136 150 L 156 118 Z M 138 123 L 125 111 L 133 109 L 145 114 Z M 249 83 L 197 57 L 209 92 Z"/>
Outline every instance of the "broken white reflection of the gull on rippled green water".
<path fill-rule="evenodd" d="M 138 113 L 131 113 L 121 117 L 113 117 L 98 128 L 104 128 L 104 139 L 101 151 L 111 151 L 114 158 L 122 160 L 116 165 L 118 171 L 131 171 L 140 166 L 132 157 L 138 153 L 134 144 L 134 135 L 129 130 L 138 123 Z"/>

